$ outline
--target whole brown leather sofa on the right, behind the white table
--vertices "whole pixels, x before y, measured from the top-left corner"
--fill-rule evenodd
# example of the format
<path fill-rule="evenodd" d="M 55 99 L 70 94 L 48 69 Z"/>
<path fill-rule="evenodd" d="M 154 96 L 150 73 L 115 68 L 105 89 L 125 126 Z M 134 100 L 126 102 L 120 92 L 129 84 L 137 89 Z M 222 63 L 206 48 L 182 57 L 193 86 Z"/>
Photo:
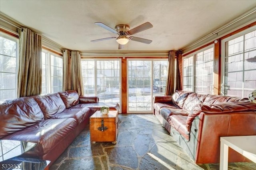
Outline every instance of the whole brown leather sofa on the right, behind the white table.
<path fill-rule="evenodd" d="M 256 135 L 256 104 L 248 99 L 176 91 L 153 102 L 154 115 L 197 164 L 220 162 L 221 136 Z M 229 162 L 245 161 L 229 149 Z"/>

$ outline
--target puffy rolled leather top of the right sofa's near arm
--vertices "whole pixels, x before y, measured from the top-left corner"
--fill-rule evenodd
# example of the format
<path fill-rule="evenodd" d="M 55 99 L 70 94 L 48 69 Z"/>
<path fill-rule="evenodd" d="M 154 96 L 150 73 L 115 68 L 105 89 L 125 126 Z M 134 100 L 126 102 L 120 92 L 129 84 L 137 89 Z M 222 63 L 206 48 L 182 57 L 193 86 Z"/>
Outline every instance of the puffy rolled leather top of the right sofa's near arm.
<path fill-rule="evenodd" d="M 240 113 L 240 112 L 255 112 L 256 104 L 253 102 L 227 102 L 219 104 L 197 104 L 188 115 L 186 127 L 190 132 L 190 128 L 194 118 L 200 113 L 209 115 L 224 114 L 224 113 Z"/>

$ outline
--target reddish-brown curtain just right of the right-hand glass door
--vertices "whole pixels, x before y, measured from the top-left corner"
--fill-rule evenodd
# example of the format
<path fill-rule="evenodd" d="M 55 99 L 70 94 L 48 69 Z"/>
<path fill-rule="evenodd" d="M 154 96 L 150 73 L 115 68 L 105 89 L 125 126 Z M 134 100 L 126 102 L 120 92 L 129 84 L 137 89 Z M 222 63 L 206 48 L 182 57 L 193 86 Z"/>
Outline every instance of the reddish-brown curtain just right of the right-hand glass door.
<path fill-rule="evenodd" d="M 165 95 L 172 95 L 175 88 L 175 51 L 169 52 L 169 67 L 166 81 Z"/>

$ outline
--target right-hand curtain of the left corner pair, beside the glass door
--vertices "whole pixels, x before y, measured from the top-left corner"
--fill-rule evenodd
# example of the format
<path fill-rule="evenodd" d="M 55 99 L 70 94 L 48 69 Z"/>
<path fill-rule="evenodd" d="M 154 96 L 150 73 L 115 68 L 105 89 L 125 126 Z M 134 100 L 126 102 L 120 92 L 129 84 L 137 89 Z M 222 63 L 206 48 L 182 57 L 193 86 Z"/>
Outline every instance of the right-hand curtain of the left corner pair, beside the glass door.
<path fill-rule="evenodd" d="M 84 86 L 79 51 L 71 51 L 71 75 L 72 90 L 77 91 L 78 95 L 83 96 Z"/>

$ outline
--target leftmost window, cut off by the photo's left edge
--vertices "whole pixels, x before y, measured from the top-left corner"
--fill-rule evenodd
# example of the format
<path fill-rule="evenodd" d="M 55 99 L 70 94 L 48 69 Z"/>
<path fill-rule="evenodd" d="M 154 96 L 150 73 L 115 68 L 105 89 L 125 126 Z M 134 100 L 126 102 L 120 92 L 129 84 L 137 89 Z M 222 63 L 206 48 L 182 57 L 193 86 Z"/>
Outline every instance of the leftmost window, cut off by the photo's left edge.
<path fill-rule="evenodd" d="M 0 100 L 17 97 L 18 40 L 0 34 Z"/>

